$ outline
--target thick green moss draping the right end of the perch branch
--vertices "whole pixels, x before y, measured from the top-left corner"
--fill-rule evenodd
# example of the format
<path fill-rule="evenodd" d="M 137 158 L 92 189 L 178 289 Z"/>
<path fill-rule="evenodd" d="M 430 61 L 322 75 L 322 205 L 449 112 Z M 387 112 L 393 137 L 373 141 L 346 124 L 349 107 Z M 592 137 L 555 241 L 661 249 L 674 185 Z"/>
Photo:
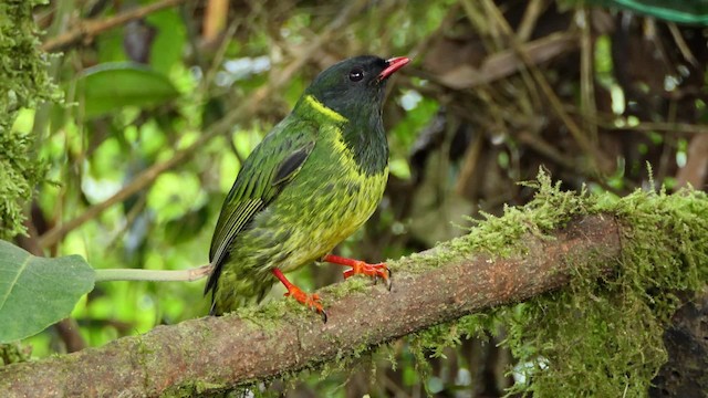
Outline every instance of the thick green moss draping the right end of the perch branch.
<path fill-rule="evenodd" d="M 675 293 L 700 290 L 708 281 L 706 193 L 637 190 L 616 198 L 562 192 L 544 172 L 527 185 L 538 190 L 533 201 L 507 208 L 500 218 L 487 216 L 448 244 L 504 256 L 518 253 L 524 233 L 546 237 L 573 218 L 602 213 L 622 226 L 620 263 L 585 264 L 560 291 L 419 333 L 412 339 L 414 355 L 425 363 L 428 355 L 457 345 L 458 336 L 496 334 L 503 326 L 503 345 L 524 365 L 517 371 L 525 376 L 509 392 L 645 396 L 667 358 L 662 336 L 680 304 Z M 612 272 L 601 273 L 607 265 Z"/>

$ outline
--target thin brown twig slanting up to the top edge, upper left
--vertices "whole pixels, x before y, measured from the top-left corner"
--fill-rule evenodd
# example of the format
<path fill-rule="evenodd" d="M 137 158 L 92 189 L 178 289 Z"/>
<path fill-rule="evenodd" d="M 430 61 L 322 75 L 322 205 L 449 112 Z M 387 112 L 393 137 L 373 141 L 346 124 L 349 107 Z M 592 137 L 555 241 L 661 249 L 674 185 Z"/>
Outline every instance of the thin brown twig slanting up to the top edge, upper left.
<path fill-rule="evenodd" d="M 101 20 L 79 21 L 72 30 L 56 38 L 48 39 L 42 44 L 42 50 L 46 52 L 63 50 L 76 42 L 94 38 L 101 32 L 119 27 L 126 22 L 144 18 L 155 11 L 180 4 L 185 1 L 187 0 L 162 0 L 153 4 L 122 12 L 115 17 Z"/>

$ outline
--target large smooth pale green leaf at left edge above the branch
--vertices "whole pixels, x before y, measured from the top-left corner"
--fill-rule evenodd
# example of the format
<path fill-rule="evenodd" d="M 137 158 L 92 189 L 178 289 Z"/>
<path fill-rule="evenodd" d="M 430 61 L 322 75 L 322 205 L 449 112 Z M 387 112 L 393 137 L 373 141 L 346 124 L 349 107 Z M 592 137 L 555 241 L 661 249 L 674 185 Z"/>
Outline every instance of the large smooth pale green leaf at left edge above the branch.
<path fill-rule="evenodd" d="M 45 259 L 0 240 L 0 344 L 67 317 L 94 279 L 80 255 Z"/>

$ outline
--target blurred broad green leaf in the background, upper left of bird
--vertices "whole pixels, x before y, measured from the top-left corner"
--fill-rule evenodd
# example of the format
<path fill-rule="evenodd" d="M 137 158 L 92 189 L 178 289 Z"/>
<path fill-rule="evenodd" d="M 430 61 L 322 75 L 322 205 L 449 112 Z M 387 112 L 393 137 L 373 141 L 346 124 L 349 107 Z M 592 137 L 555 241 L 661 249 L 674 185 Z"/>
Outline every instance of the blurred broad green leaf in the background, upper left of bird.
<path fill-rule="evenodd" d="M 84 117 L 96 117 L 124 106 L 150 106 L 179 96 L 164 74 L 145 65 L 111 62 L 85 70 L 76 82 Z"/>

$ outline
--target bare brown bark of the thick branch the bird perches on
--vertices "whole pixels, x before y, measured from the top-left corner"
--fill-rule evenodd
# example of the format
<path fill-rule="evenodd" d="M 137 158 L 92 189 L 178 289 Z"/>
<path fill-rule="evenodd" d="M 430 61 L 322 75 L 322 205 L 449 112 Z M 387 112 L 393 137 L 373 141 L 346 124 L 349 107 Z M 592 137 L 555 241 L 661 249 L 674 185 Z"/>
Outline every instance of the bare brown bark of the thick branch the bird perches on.
<path fill-rule="evenodd" d="M 590 216 L 552 238 L 527 233 L 508 259 L 454 249 L 464 248 L 460 241 L 389 263 L 392 292 L 382 285 L 340 298 L 321 292 L 330 314 L 326 324 L 293 304 L 282 316 L 206 317 L 158 326 L 101 348 L 0 368 L 0 390 L 6 397 L 53 397 L 229 389 L 558 289 L 576 272 L 572 270 L 611 266 L 621 254 L 620 238 L 613 217 Z M 416 269 L 426 271 L 409 272 Z"/>

